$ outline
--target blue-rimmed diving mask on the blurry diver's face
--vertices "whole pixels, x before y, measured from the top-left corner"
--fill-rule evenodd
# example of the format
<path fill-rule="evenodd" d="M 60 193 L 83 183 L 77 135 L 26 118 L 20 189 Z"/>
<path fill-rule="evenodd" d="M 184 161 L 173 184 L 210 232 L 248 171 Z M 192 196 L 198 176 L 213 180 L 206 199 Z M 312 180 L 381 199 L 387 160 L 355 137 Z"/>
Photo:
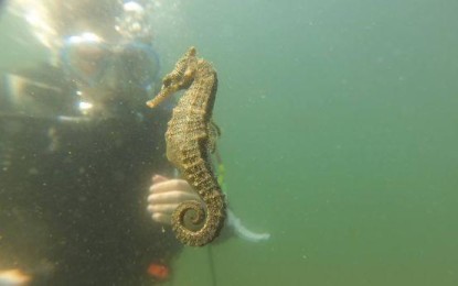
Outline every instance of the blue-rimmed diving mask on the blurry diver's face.
<path fill-rule="evenodd" d="M 140 41 L 108 44 L 93 33 L 65 38 L 61 61 L 67 75 L 88 87 L 113 86 L 151 89 L 159 73 L 159 58 L 151 45 Z"/>

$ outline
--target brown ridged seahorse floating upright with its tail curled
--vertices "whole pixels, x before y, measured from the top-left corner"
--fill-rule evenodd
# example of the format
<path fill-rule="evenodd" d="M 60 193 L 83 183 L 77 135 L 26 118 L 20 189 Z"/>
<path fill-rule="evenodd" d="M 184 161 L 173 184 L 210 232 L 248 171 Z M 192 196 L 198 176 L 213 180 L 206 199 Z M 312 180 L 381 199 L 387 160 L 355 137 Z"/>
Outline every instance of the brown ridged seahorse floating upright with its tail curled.
<path fill-rule="evenodd" d="M 159 94 L 147 105 L 155 108 L 181 89 L 187 91 L 173 109 L 166 132 L 167 157 L 198 191 L 206 210 L 200 201 L 180 204 L 172 213 L 172 229 L 182 243 L 202 246 L 220 234 L 226 217 L 226 201 L 210 157 L 220 133 L 212 121 L 217 75 L 209 62 L 196 57 L 195 47 L 190 47 L 177 62 L 174 69 L 162 79 Z M 194 227 L 203 223 L 198 230 L 184 224 L 190 210 L 194 211 L 191 220 Z"/>

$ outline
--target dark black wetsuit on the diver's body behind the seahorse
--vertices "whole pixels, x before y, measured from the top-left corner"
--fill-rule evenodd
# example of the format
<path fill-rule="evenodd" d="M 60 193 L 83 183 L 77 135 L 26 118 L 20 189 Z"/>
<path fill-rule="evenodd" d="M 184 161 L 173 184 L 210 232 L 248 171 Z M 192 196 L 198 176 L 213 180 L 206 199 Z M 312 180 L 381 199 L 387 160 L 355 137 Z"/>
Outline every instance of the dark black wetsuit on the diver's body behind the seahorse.
<path fill-rule="evenodd" d="M 58 88 L 25 96 L 73 116 L 74 90 L 56 77 Z M 42 285 L 151 285 L 148 265 L 168 265 L 180 250 L 146 210 L 152 174 L 171 172 L 169 112 L 35 117 L 8 106 L 11 90 L 0 91 L 0 270 L 22 268 Z"/>

